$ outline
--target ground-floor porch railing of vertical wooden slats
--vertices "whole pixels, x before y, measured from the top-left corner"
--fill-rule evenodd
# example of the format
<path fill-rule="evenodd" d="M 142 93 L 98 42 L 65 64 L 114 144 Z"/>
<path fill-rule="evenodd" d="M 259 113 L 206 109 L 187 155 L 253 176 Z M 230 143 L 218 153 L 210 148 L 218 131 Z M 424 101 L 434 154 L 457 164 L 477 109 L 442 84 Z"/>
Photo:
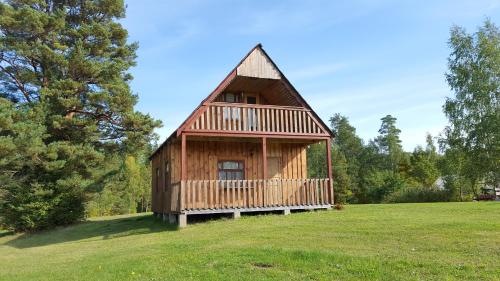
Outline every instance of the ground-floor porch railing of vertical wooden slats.
<path fill-rule="evenodd" d="M 333 204 L 331 179 L 186 180 L 180 211 L 317 206 Z"/>

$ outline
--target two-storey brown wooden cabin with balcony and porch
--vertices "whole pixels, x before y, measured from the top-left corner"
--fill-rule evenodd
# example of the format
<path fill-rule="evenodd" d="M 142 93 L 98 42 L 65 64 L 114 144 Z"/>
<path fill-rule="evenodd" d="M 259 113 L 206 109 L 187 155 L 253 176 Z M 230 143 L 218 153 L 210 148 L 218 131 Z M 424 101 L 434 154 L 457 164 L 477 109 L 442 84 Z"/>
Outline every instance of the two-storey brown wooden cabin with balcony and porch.
<path fill-rule="evenodd" d="M 153 212 L 327 209 L 333 204 L 328 126 L 259 44 L 151 155 Z M 328 175 L 307 174 L 307 147 L 326 143 Z"/>

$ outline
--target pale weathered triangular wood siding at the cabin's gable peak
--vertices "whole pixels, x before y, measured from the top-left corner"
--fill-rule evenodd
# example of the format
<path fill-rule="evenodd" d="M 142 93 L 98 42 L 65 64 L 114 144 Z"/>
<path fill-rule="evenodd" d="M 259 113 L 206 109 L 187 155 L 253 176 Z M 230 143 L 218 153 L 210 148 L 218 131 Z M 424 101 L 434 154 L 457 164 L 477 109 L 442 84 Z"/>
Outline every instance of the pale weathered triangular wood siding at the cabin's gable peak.
<path fill-rule="evenodd" d="M 236 72 L 240 76 L 280 79 L 279 71 L 273 66 L 271 61 L 262 53 L 259 48 L 255 48 L 237 67 Z"/>

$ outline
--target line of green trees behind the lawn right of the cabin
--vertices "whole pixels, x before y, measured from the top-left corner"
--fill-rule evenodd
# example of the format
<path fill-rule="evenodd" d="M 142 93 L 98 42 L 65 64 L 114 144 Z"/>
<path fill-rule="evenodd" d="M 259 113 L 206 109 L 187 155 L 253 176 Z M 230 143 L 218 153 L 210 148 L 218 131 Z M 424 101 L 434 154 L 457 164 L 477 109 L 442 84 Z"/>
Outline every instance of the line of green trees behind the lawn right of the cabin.
<path fill-rule="evenodd" d="M 468 201 L 493 198 L 500 186 L 500 33 L 489 20 L 474 34 L 453 27 L 446 80 L 454 92 L 443 111 L 449 125 L 405 152 L 396 117 L 381 119 L 364 143 L 347 117 L 330 119 L 332 170 L 341 203 Z M 437 142 L 437 143 L 436 143 Z M 322 145 L 309 147 L 309 173 L 325 176 Z M 439 149 L 438 149 L 439 147 Z"/>

